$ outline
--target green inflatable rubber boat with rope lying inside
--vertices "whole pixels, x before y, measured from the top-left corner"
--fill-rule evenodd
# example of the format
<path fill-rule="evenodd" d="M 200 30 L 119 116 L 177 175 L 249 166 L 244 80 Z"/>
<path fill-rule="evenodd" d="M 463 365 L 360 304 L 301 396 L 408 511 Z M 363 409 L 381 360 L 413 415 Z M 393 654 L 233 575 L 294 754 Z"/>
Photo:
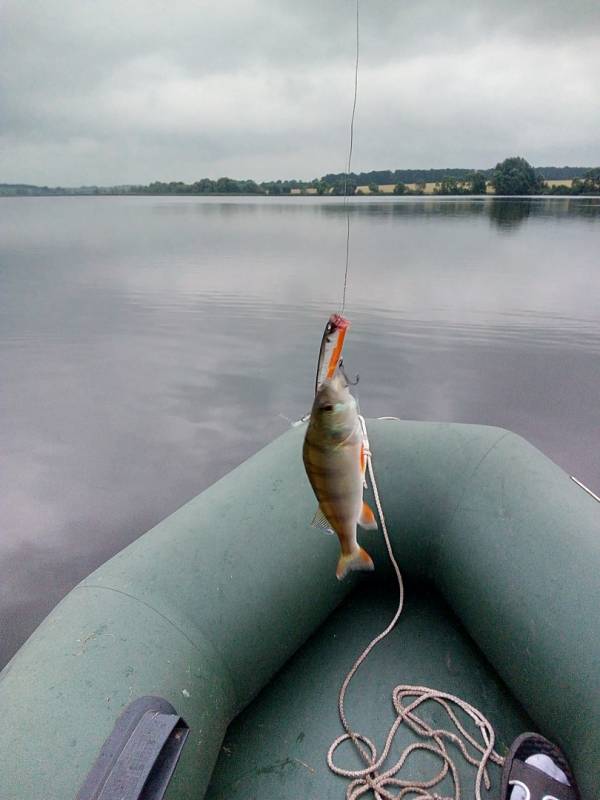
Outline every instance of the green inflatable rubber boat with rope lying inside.
<path fill-rule="evenodd" d="M 380 747 L 393 687 L 436 687 L 486 715 L 500 754 L 526 730 L 555 741 L 598 800 L 600 504 L 508 431 L 367 424 L 406 606 L 350 686 L 351 725 Z M 303 433 L 96 570 L 15 655 L 0 676 L 2 800 L 345 796 L 326 763 L 338 691 L 397 585 L 377 531 L 360 537 L 375 571 L 335 579 L 337 539 L 310 527 Z M 398 748 L 413 740 L 402 728 Z M 360 767 L 345 747 L 338 761 Z M 474 770 L 456 763 L 472 797 Z"/>

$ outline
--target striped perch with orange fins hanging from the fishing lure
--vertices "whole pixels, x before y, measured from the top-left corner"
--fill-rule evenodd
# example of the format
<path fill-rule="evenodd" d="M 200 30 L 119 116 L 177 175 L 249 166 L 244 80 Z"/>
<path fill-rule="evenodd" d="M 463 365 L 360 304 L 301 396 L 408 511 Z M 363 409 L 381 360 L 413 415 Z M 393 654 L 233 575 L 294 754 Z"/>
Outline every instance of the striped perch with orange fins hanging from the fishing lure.
<path fill-rule="evenodd" d="M 376 528 L 363 502 L 365 456 L 356 401 L 339 373 L 317 392 L 303 448 L 304 467 L 317 497 L 315 524 L 329 527 L 340 541 L 339 579 L 353 569 L 373 569 L 359 547 L 356 526 Z"/>

